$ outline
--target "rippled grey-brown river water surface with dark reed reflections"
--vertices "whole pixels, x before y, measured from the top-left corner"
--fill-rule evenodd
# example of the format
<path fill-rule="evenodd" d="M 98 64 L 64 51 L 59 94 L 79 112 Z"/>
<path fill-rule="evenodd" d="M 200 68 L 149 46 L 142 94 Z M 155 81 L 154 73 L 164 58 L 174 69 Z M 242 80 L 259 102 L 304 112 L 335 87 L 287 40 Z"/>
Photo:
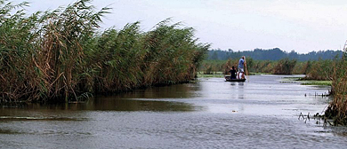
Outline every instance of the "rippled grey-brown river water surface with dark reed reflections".
<path fill-rule="evenodd" d="M 0 148 L 346 148 L 347 129 L 298 120 L 321 113 L 328 87 L 198 82 L 95 97 L 83 104 L 0 109 Z M 306 95 L 306 96 L 305 96 Z"/>

